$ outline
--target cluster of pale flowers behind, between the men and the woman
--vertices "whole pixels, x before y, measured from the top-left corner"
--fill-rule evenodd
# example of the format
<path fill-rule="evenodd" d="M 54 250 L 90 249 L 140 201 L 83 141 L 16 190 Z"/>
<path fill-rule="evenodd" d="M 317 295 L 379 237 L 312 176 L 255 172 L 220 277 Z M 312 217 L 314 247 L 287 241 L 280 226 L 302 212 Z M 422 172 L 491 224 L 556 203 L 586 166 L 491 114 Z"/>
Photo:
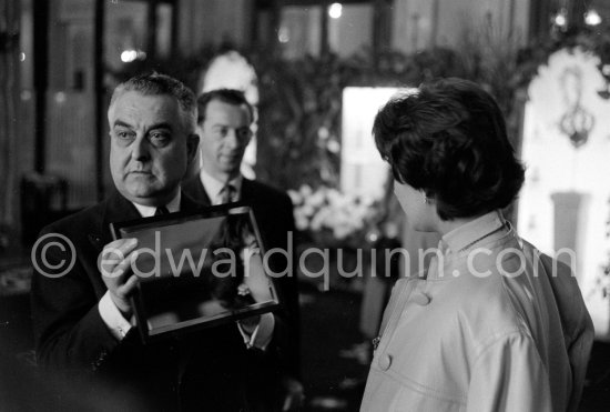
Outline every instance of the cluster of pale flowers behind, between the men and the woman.
<path fill-rule="evenodd" d="M 364 244 L 366 231 L 376 215 L 374 199 L 324 185 L 314 190 L 308 184 L 288 190 L 288 194 L 294 204 L 296 229 L 308 233 L 313 241 L 325 245 Z"/>

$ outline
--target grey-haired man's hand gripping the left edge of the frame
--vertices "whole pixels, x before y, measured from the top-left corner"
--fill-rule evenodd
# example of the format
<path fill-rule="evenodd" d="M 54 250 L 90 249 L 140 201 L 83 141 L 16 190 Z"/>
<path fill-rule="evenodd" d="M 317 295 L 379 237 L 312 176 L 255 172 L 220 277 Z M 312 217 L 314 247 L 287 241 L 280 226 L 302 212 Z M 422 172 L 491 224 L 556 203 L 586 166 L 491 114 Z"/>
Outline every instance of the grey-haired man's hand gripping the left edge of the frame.
<path fill-rule="evenodd" d="M 102 280 L 110 298 L 125 318 L 131 318 L 132 309 L 129 298 L 138 284 L 138 277 L 132 273 L 131 263 L 138 257 L 136 239 L 119 239 L 104 247 L 99 262 Z"/>

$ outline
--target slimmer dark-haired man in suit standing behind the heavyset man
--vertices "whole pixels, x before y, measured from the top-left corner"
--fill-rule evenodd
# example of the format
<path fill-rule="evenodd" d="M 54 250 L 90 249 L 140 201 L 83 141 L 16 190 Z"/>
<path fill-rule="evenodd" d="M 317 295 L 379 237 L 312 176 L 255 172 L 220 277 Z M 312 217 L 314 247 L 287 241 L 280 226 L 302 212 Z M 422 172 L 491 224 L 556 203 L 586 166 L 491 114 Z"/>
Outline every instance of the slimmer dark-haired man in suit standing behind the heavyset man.
<path fill-rule="evenodd" d="M 289 197 L 267 184 L 244 178 L 240 172 L 244 151 L 252 138 L 253 107 L 243 92 L 216 89 L 197 99 L 197 132 L 201 137 L 202 168 L 183 189 L 204 205 L 242 201 L 252 205 L 270 253 L 270 267 L 285 304 L 289 333 L 286 353 L 288 378 L 285 385 L 294 399 L 301 398 L 299 309 L 294 268 L 294 215 Z M 281 252 L 282 251 L 282 252 Z M 295 394 L 296 393 L 296 394 Z"/>

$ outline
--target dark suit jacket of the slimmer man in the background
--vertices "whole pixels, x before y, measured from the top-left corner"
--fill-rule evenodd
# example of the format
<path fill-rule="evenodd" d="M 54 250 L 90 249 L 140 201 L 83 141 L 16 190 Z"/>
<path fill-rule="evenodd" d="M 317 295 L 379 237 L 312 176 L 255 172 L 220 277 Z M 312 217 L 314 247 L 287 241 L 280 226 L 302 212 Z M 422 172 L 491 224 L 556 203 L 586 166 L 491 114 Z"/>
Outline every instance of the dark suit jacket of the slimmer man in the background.
<path fill-rule="evenodd" d="M 182 190 L 202 205 L 211 204 L 210 198 L 203 188 L 199 173 L 183 183 Z M 296 278 L 296 244 L 295 239 L 288 247 L 288 235 L 295 234 L 293 203 L 285 193 L 255 180 L 243 179 L 240 201 L 250 204 L 258 223 L 258 229 L 267 251 L 274 248 L 288 251 L 292 262 L 279 253 L 273 253 L 270 259 L 271 269 L 281 273 L 291 264 L 291 275 L 278 277 L 275 285 L 283 301 L 288 330 L 289 349 L 286 353 L 286 368 L 295 378 L 299 378 L 299 307 Z"/>

